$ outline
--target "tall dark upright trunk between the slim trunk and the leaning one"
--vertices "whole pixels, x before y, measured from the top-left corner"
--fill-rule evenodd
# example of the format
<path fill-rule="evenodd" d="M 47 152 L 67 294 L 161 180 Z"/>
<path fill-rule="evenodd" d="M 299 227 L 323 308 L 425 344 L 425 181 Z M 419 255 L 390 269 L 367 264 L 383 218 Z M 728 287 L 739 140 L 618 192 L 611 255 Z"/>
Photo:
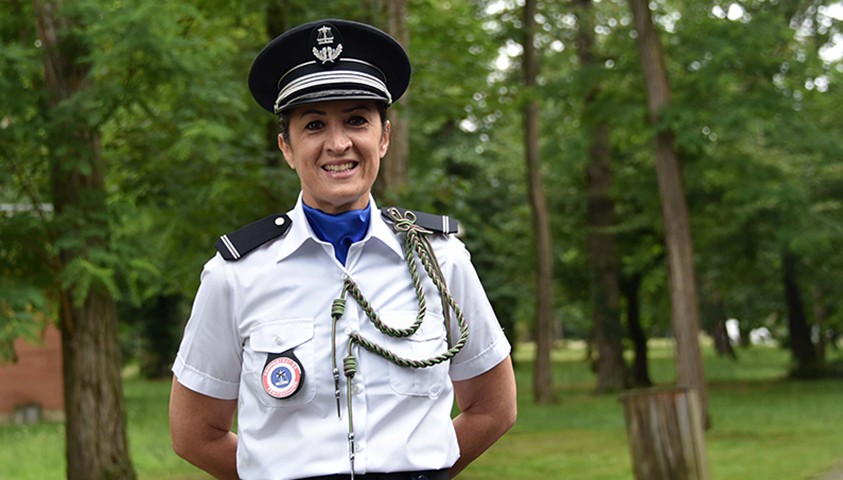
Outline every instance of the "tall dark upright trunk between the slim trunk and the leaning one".
<path fill-rule="evenodd" d="M 577 55 L 580 68 L 597 65 L 594 52 L 594 21 L 591 0 L 575 0 L 578 29 Z M 615 241 L 611 229 L 616 224 L 611 197 L 612 167 L 609 152 L 609 126 L 598 118 L 593 103 L 600 93 L 594 84 L 586 94 L 583 125 L 589 131 L 590 162 L 588 185 L 588 258 L 594 343 L 597 347 L 597 391 L 616 392 L 627 386 L 623 359 L 623 327 L 620 318 L 620 288 Z"/>

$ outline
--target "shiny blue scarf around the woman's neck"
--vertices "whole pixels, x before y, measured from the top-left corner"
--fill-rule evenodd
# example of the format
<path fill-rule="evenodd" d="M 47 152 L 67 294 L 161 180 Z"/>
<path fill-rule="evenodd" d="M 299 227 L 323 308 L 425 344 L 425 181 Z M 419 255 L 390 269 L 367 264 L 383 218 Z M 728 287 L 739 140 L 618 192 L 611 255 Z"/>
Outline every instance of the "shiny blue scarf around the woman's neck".
<path fill-rule="evenodd" d="M 349 210 L 331 215 L 309 207 L 302 203 L 304 215 L 313 233 L 322 240 L 334 246 L 334 256 L 345 265 L 348 249 L 354 242 L 359 242 L 369 231 L 372 218 L 371 204 L 362 210 Z"/>

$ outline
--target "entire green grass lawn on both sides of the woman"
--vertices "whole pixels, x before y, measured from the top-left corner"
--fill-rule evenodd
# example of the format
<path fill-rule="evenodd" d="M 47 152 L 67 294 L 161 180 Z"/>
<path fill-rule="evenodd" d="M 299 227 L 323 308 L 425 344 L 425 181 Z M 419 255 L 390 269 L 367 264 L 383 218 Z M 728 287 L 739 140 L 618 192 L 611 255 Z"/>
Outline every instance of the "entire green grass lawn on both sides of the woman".
<path fill-rule="evenodd" d="M 519 346 L 518 424 L 476 461 L 463 480 L 631 479 L 623 408 L 618 395 L 592 393 L 584 352 L 554 353 L 558 403 L 531 401 L 529 346 Z M 739 350 L 738 361 L 704 350 L 712 428 L 706 450 L 713 480 L 809 480 L 843 461 L 843 379 L 784 379 L 789 354 L 778 348 Z M 829 351 L 843 362 L 843 352 Z M 651 347 L 651 376 L 675 379 L 672 346 Z M 199 480 L 207 476 L 170 449 L 169 382 L 129 376 L 125 383 L 132 460 L 142 480 Z M 0 479 L 64 477 L 61 424 L 0 427 Z"/>

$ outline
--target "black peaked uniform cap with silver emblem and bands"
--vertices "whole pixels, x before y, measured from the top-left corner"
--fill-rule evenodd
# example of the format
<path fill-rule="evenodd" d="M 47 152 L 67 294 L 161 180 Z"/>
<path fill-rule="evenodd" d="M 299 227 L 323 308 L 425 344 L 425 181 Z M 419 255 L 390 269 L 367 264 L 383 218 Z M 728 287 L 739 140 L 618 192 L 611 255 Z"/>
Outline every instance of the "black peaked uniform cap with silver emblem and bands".
<path fill-rule="evenodd" d="M 299 25 L 269 42 L 255 58 L 249 90 L 273 113 L 335 100 L 372 100 L 387 106 L 410 83 L 410 60 L 375 27 L 326 19 Z"/>

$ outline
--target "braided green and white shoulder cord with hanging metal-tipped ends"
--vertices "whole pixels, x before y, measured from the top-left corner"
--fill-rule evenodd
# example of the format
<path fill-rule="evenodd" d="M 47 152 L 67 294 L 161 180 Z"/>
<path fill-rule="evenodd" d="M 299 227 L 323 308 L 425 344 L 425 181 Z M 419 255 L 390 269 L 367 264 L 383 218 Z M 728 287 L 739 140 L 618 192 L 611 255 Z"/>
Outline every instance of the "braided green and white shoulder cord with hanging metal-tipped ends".
<path fill-rule="evenodd" d="M 457 353 L 459 353 L 460 350 L 462 350 L 462 347 L 465 345 L 466 341 L 468 341 L 468 325 L 466 324 L 465 318 L 463 317 L 462 309 L 457 304 L 454 297 L 451 295 L 451 292 L 448 290 L 448 287 L 445 283 L 445 275 L 442 273 L 442 269 L 440 268 L 439 262 L 436 259 L 436 255 L 433 252 L 433 247 L 430 245 L 430 241 L 427 238 L 427 236 L 430 235 L 432 232 L 417 225 L 416 216 L 411 211 L 407 211 L 404 213 L 404 215 L 402 215 L 401 212 L 398 211 L 398 209 L 390 208 L 389 210 L 387 210 L 387 214 L 389 215 L 390 219 L 395 222 L 395 229 L 400 232 L 404 232 L 404 258 L 407 262 L 407 268 L 410 272 L 410 277 L 412 277 L 413 280 L 413 288 L 415 289 L 416 298 L 418 299 L 419 304 L 419 313 L 416 316 L 416 321 L 413 322 L 413 324 L 407 328 L 396 329 L 389 327 L 381 321 L 380 316 L 374 310 L 369 301 L 366 300 L 366 297 L 363 296 L 363 293 L 360 291 L 357 284 L 354 283 L 354 281 L 350 277 L 345 278 L 340 298 L 335 299 L 333 304 L 331 305 L 331 318 L 333 319 L 333 326 L 331 332 L 331 358 L 333 362 L 334 395 L 337 400 L 337 417 L 341 417 L 342 415 L 340 413 L 340 374 L 339 368 L 337 366 L 336 334 L 337 323 L 345 313 L 346 294 L 349 294 L 355 301 L 357 301 L 357 304 L 360 305 L 360 308 L 363 310 L 364 313 L 366 313 L 366 316 L 372 321 L 372 324 L 375 325 L 375 327 L 380 330 L 383 334 L 389 335 L 394 338 L 409 337 L 410 335 L 413 335 L 414 333 L 416 333 L 416 331 L 418 331 L 427 313 L 427 301 L 424 297 L 424 288 L 422 286 L 421 280 L 419 279 L 419 273 L 416 267 L 416 258 L 418 258 L 422 266 L 424 267 L 424 270 L 427 273 L 428 277 L 430 277 L 431 281 L 439 291 L 439 296 L 442 300 L 442 313 L 445 317 L 445 331 L 448 342 L 448 350 L 435 357 L 422 360 L 413 360 L 400 357 L 394 352 L 391 352 L 386 348 L 374 342 L 371 342 L 370 340 L 361 336 L 357 332 L 352 332 L 349 334 L 347 354 L 345 358 L 343 358 L 343 373 L 348 379 L 348 381 L 346 382 L 346 401 L 348 402 L 348 455 L 349 461 L 351 462 L 352 480 L 354 478 L 355 449 L 354 419 L 352 416 L 351 409 L 351 380 L 354 377 L 355 373 L 357 373 L 357 358 L 354 356 L 353 352 L 354 344 L 360 345 L 366 350 L 376 355 L 379 355 L 385 358 L 386 360 L 394 363 L 395 365 L 401 367 L 427 368 L 450 360 L 454 357 L 454 355 L 456 355 Z M 457 343 L 453 345 L 451 344 L 451 309 L 453 309 L 454 314 L 457 317 L 457 324 L 460 329 L 460 337 L 457 340 Z"/>

